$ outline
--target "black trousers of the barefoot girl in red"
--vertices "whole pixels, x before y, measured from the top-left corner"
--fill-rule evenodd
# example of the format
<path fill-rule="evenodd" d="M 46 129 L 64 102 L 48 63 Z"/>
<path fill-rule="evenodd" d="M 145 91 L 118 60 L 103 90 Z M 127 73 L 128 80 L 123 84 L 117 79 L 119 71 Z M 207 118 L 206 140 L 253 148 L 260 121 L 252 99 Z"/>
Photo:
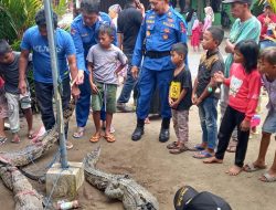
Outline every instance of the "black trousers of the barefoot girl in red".
<path fill-rule="evenodd" d="M 222 118 L 221 127 L 219 130 L 219 145 L 217 150 L 215 153 L 215 157 L 217 159 L 223 159 L 224 154 L 227 149 L 229 141 L 234 130 L 235 126 L 237 127 L 237 146 L 236 146 L 236 154 L 235 154 L 235 165 L 238 167 L 243 167 L 244 159 L 247 150 L 247 144 L 250 138 L 250 130 L 242 132 L 240 126 L 241 123 L 244 120 L 245 114 L 241 113 L 231 106 L 226 107 L 225 114 Z"/>

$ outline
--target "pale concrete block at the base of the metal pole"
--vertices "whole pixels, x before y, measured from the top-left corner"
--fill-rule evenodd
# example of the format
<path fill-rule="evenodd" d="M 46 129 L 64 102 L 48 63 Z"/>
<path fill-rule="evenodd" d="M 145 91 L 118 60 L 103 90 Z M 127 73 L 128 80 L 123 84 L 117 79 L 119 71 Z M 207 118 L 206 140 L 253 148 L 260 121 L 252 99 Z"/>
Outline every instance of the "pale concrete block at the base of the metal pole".
<path fill-rule="evenodd" d="M 84 182 L 83 162 L 68 162 L 67 169 L 62 169 L 61 164 L 54 164 L 46 172 L 46 195 L 52 193 L 52 199 L 66 198 L 73 200 L 77 190 Z M 53 192 L 52 192 L 53 190 Z"/>

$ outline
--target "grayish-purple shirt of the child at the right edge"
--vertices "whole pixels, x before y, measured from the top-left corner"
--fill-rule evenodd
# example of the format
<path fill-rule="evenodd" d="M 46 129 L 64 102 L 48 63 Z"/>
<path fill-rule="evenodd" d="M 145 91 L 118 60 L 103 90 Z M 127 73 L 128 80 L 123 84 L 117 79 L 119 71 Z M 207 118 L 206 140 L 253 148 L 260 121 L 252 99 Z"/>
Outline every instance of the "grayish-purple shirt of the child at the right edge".
<path fill-rule="evenodd" d="M 262 75 L 262 78 L 265 84 L 265 88 L 268 93 L 268 98 L 269 98 L 266 107 L 268 108 L 268 111 L 276 112 L 276 80 L 274 80 L 273 82 L 269 82 L 267 81 L 265 75 Z"/>

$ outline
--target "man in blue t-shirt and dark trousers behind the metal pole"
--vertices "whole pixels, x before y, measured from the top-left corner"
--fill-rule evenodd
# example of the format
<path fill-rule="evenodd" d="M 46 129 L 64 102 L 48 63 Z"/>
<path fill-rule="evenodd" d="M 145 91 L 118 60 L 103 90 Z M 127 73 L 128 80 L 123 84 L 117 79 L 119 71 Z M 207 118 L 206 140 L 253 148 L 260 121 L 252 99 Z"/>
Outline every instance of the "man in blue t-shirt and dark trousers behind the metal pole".
<path fill-rule="evenodd" d="M 71 35 L 57 27 L 57 15 L 53 13 L 53 22 L 55 28 L 55 42 L 59 62 L 59 81 L 62 83 L 62 106 L 63 109 L 68 107 L 71 94 L 77 98 L 79 90 L 76 84 L 70 86 L 70 72 L 73 81 L 79 83 L 77 76 L 75 46 Z M 42 122 L 46 130 L 53 128 L 55 124 L 53 111 L 53 77 L 51 67 L 51 56 L 49 50 L 46 19 L 44 10 L 40 10 L 35 14 L 35 27 L 28 29 L 21 42 L 21 55 L 19 62 L 19 88 L 21 94 L 26 93 L 25 71 L 29 62 L 29 54 L 33 53 L 33 74 L 36 98 L 39 102 Z M 70 72 L 68 72 L 68 66 Z M 67 139 L 68 126 L 65 126 L 65 137 Z M 66 147 L 70 149 L 73 145 L 66 141 Z"/>

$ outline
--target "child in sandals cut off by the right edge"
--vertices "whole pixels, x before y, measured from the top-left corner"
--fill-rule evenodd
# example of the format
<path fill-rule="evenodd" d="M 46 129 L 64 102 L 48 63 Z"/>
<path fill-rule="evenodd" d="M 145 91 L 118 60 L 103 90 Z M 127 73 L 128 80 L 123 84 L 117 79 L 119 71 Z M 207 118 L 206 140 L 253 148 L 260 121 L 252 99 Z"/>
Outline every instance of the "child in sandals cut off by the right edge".
<path fill-rule="evenodd" d="M 257 159 L 247 164 L 244 170 L 247 172 L 261 170 L 266 168 L 265 156 L 270 143 L 272 134 L 276 133 L 276 48 L 265 49 L 259 59 L 258 70 L 267 90 L 269 102 L 267 105 L 268 114 L 263 125 L 262 140 Z M 276 181 L 276 153 L 274 162 L 269 170 L 259 177 L 261 181 L 272 182 Z"/>

